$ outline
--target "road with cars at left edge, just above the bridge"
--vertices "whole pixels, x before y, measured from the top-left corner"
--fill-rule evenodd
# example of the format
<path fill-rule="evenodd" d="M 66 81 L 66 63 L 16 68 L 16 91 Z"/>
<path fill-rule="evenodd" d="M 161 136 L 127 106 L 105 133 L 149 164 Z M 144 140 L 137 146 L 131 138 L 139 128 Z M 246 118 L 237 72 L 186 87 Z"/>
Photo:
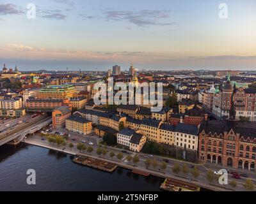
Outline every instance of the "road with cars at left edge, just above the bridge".
<path fill-rule="evenodd" d="M 26 114 L 23 117 L 19 117 L 17 119 L 6 119 L 6 120 L 1 120 L 0 121 L 0 133 L 4 133 L 5 131 L 9 131 L 11 129 L 17 128 L 19 126 L 19 121 L 23 122 L 28 122 L 31 120 L 30 114 Z M 9 124 L 7 127 L 6 125 Z"/>

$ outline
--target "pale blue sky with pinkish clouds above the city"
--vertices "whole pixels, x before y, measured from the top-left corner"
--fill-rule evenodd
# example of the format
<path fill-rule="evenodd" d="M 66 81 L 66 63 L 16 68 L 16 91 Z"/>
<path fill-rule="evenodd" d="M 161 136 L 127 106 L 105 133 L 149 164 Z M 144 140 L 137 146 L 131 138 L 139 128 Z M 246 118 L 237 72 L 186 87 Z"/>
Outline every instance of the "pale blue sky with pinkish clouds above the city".
<path fill-rule="evenodd" d="M 0 27 L 0 68 L 256 70 L 255 0 L 0 0 Z"/>

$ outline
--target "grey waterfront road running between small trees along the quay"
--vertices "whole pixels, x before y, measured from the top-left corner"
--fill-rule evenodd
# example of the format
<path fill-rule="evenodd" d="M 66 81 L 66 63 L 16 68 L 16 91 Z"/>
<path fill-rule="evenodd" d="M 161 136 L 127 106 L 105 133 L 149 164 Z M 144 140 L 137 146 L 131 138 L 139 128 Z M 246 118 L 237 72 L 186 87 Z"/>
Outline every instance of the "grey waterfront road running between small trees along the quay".
<path fill-rule="evenodd" d="M 78 133 L 72 133 L 72 132 L 70 132 L 70 131 L 65 131 L 65 129 L 58 129 L 58 131 L 61 131 L 62 133 L 70 133 L 70 135 L 71 135 L 71 137 L 70 138 L 68 138 L 68 140 L 67 140 L 67 145 L 65 146 L 65 147 L 60 147 L 60 149 L 68 149 L 68 150 L 70 150 L 69 149 L 69 147 L 68 147 L 68 143 L 70 143 L 70 142 L 72 142 L 72 143 L 74 143 L 74 148 L 72 149 L 72 152 L 76 152 L 76 153 L 79 153 L 79 150 L 77 150 L 76 149 L 76 145 L 77 145 L 77 143 L 79 143 L 79 142 L 81 142 L 81 141 L 85 141 L 85 144 L 86 144 L 86 146 L 89 146 L 89 142 L 93 142 L 93 145 L 92 145 L 92 147 L 93 147 L 93 152 L 92 152 L 92 155 L 93 156 L 98 156 L 97 155 L 97 153 L 96 153 L 96 150 L 97 150 L 97 148 L 99 147 L 99 145 L 98 145 L 98 143 L 99 143 L 99 141 L 100 141 L 100 138 L 99 138 L 99 136 L 97 136 L 97 135 L 95 135 L 94 133 L 92 133 L 92 134 L 90 134 L 90 135 L 87 135 L 87 136 L 83 136 L 83 135 L 79 135 Z M 46 141 L 46 140 L 42 140 L 42 138 L 40 137 L 40 134 L 37 134 L 37 135 L 35 135 L 33 138 L 32 137 L 29 137 L 29 138 L 27 138 L 26 139 L 26 141 L 31 141 L 31 142 L 36 142 L 36 143 L 42 143 L 42 144 L 44 144 L 44 145 L 46 145 L 46 146 L 49 146 L 49 143 Z M 56 145 L 55 145 L 56 146 Z M 113 148 L 113 147 L 106 147 L 107 148 L 107 150 L 108 150 L 108 152 L 114 152 L 115 153 L 115 155 L 117 155 L 118 153 L 120 153 L 120 152 L 122 152 L 122 149 L 116 149 L 116 148 Z M 228 189 L 228 190 L 232 190 L 232 187 L 231 186 L 229 186 L 229 185 L 220 185 L 220 184 L 218 184 L 218 182 L 217 182 L 217 180 L 215 181 L 213 181 L 211 184 L 210 184 L 210 182 L 206 179 L 206 177 L 205 177 L 205 175 L 207 174 L 207 171 L 209 170 L 206 166 L 204 166 L 203 164 L 193 164 L 193 163 L 188 163 L 188 162 L 186 162 L 186 161 L 179 161 L 179 160 L 176 160 L 176 159 L 170 159 L 170 158 L 165 158 L 165 157 L 161 157 L 161 156 L 154 156 L 153 158 L 154 159 L 156 159 L 157 160 L 157 162 L 158 163 L 161 163 L 162 161 L 163 161 L 163 159 L 165 158 L 165 159 L 168 159 L 169 161 L 168 161 L 168 163 L 167 163 L 167 168 L 166 168 L 166 170 L 159 170 L 159 167 L 157 167 L 157 168 L 153 168 L 153 167 L 149 167 L 148 169 L 146 168 L 146 166 L 145 166 L 145 160 L 146 160 L 146 158 L 144 157 L 145 156 L 145 154 L 143 154 L 143 153 L 140 153 L 140 154 L 138 154 L 138 153 L 135 153 L 135 152 L 131 152 L 131 151 L 128 151 L 129 152 L 129 154 L 123 154 L 124 156 L 123 156 L 123 158 L 119 161 L 120 163 L 122 163 L 122 165 L 125 165 L 125 166 L 131 166 L 131 165 L 134 165 L 132 162 L 131 163 L 129 163 L 129 162 L 127 162 L 126 161 L 126 157 L 127 157 L 127 155 L 131 155 L 131 156 L 134 156 L 134 155 L 138 155 L 139 157 L 140 157 L 140 161 L 139 161 L 139 163 L 137 163 L 136 164 L 136 166 L 137 167 L 139 167 L 139 168 L 141 168 L 141 169 L 143 169 L 143 170 L 150 170 L 150 171 L 154 171 L 154 172 L 156 172 L 156 173 L 160 173 L 161 175 L 166 175 L 166 176 L 168 176 L 168 175 L 170 175 L 170 176 L 174 176 L 174 177 L 177 177 L 177 179 L 178 178 L 182 178 L 182 179 L 186 179 L 188 182 L 195 182 L 195 183 L 200 183 L 200 184 L 205 184 L 205 185 L 211 185 L 212 186 L 212 184 L 214 185 L 214 186 L 218 186 L 218 187 L 221 187 L 221 189 L 223 189 L 223 188 L 226 188 L 226 189 Z M 99 157 L 99 156 L 98 156 Z M 101 157 L 103 157 L 103 156 L 101 156 Z M 108 154 L 106 154 L 105 156 L 104 156 L 104 158 L 105 159 L 109 159 L 109 160 L 113 160 L 113 161 L 118 161 L 118 159 L 116 159 L 116 157 L 115 157 L 115 159 L 113 159 L 113 158 L 111 158 L 110 156 L 109 156 L 109 153 Z M 191 175 L 191 173 L 182 173 L 182 170 L 180 170 L 180 173 L 179 174 L 176 174 L 176 173 L 173 173 L 173 171 L 172 171 L 172 167 L 175 165 L 175 164 L 177 164 L 177 163 L 179 163 L 180 164 L 180 166 L 182 166 L 183 164 L 186 164 L 187 166 L 188 166 L 188 168 L 189 168 L 189 166 L 191 166 L 191 165 L 193 165 L 193 166 L 198 166 L 198 170 L 200 170 L 200 176 L 198 177 L 198 178 L 194 178 L 193 177 L 193 175 Z M 211 168 L 213 171 L 219 171 L 220 170 L 220 168 Z M 248 172 L 247 172 L 247 174 L 248 174 Z M 252 177 L 251 177 L 252 176 Z M 252 179 L 253 180 L 253 183 L 254 184 L 256 184 L 256 176 L 255 176 L 255 173 L 250 173 L 250 179 Z M 232 175 L 228 175 L 228 182 L 230 182 L 230 181 L 232 181 L 232 180 L 236 180 L 236 183 L 237 183 L 237 187 L 236 187 L 236 190 L 237 191 L 244 191 L 245 189 L 244 189 L 244 186 L 243 186 L 243 184 L 244 184 L 244 182 L 246 181 L 246 178 L 241 178 L 241 179 L 234 179 L 233 177 L 232 177 Z"/>

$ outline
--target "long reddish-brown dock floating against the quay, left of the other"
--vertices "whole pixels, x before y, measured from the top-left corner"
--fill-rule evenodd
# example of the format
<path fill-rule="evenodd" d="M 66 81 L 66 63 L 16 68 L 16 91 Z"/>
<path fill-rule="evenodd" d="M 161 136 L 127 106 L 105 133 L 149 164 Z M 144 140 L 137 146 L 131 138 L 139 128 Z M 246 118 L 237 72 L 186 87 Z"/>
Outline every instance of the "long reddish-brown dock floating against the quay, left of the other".
<path fill-rule="evenodd" d="M 90 166 L 92 168 L 96 168 L 98 170 L 107 171 L 112 173 L 117 168 L 116 164 L 109 163 L 108 161 L 104 161 L 101 159 L 95 159 L 88 156 L 77 156 L 72 160 L 74 163 L 82 164 L 84 166 Z"/>

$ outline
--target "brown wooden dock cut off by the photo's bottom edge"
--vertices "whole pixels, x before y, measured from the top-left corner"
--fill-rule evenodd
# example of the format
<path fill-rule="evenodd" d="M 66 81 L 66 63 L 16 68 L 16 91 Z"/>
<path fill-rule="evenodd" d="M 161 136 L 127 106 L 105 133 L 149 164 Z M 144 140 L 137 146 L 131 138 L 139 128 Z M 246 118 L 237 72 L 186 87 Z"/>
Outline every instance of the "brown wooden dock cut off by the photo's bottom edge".
<path fill-rule="evenodd" d="M 160 189 L 164 191 L 200 191 L 200 187 L 176 179 L 165 179 Z"/>

